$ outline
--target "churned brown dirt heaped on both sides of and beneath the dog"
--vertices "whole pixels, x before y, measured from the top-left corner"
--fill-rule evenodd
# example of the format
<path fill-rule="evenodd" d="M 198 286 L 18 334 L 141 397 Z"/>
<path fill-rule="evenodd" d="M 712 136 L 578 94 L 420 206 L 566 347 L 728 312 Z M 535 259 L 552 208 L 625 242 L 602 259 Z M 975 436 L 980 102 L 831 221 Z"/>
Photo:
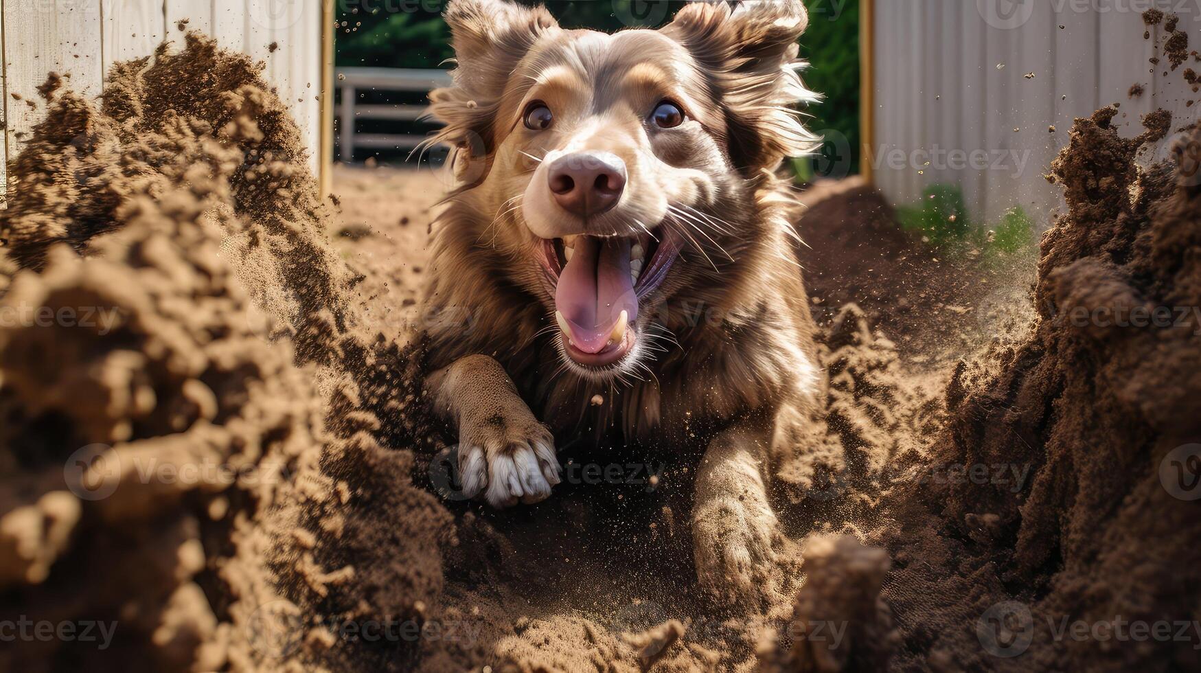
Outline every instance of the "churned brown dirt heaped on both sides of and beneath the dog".
<path fill-rule="evenodd" d="M 348 254 L 387 234 L 330 243 L 261 72 L 189 36 L 114 67 L 102 103 L 43 88 L 0 214 L 0 621 L 90 626 L 23 638 L 0 668 L 1195 662 L 1195 638 L 1099 645 L 1060 624 L 1196 609 L 1201 131 L 1143 169 L 1166 115 L 1134 141 L 1112 109 L 1078 120 L 1038 320 L 956 343 L 986 353 L 952 369 L 900 353 L 961 330 L 930 308 L 976 300 L 943 282 L 968 272 L 897 239 L 870 190 L 812 204 L 829 226 L 802 230 L 831 254 L 806 266 L 839 306 L 827 409 L 773 484 L 803 586 L 735 615 L 695 591 L 682 465 L 518 512 L 455 500 L 419 351 L 381 326 L 408 305 L 387 297 L 395 264 Z M 850 262 L 868 281 L 844 292 Z M 913 310 L 890 312 L 898 297 Z"/>

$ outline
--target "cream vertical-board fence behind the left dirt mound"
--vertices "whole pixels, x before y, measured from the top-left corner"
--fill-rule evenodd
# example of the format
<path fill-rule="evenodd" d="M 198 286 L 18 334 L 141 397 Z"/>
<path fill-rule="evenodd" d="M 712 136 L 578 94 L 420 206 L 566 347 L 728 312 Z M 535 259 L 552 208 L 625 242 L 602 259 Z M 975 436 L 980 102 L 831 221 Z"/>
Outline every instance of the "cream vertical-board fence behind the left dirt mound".
<path fill-rule="evenodd" d="M 330 26 L 321 0 L 0 0 L 4 32 L 5 133 L 0 156 L 20 150 L 22 137 L 44 114 L 36 88 L 50 71 L 71 75 L 77 91 L 100 94 L 113 62 L 154 53 L 165 38 L 183 41 L 178 23 L 226 48 L 267 62 L 311 148 L 318 168 L 322 143 L 322 66 L 331 59 Z M 329 19 L 331 22 L 331 19 Z M 275 49 L 271 49 L 271 44 Z M 324 49 L 323 49 L 324 47 Z M 19 100 L 18 100 L 19 97 Z M 26 101 L 35 101 L 30 107 Z M 2 163 L 2 162 L 0 162 Z M 4 195 L 0 165 L 0 196 Z"/>

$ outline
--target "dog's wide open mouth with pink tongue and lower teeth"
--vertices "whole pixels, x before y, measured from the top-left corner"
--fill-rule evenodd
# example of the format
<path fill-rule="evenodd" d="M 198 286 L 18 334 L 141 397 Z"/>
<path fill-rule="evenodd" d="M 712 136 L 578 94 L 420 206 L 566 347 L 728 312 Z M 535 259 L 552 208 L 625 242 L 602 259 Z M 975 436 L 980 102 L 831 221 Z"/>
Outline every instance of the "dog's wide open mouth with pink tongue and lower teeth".
<path fill-rule="evenodd" d="M 653 236 L 544 239 L 542 262 L 567 357 L 604 368 L 629 355 L 638 340 L 639 302 L 662 285 L 679 251 L 663 228 Z"/>

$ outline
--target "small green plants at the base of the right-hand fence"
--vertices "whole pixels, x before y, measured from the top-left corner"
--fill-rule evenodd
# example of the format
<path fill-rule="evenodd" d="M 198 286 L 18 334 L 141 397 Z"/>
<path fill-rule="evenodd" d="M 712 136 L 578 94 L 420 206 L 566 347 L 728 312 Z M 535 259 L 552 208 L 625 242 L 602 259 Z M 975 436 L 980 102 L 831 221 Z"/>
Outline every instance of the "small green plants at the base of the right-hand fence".
<path fill-rule="evenodd" d="M 1021 206 L 1005 212 L 992 226 L 976 226 L 967 210 L 963 191 L 952 184 L 930 185 L 921 203 L 898 206 L 901 228 L 939 248 L 975 248 L 985 254 L 1011 255 L 1035 243 L 1034 220 Z"/>

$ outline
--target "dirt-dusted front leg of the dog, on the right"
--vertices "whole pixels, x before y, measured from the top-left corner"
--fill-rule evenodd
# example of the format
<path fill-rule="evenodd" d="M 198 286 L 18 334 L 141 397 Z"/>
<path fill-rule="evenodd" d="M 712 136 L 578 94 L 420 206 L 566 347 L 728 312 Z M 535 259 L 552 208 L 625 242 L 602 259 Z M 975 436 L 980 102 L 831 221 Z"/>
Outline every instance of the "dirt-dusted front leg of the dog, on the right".
<path fill-rule="evenodd" d="M 730 603 L 759 606 L 782 542 L 764 469 L 771 433 L 736 423 L 709 443 L 697 471 L 693 559 L 701 586 Z"/>

